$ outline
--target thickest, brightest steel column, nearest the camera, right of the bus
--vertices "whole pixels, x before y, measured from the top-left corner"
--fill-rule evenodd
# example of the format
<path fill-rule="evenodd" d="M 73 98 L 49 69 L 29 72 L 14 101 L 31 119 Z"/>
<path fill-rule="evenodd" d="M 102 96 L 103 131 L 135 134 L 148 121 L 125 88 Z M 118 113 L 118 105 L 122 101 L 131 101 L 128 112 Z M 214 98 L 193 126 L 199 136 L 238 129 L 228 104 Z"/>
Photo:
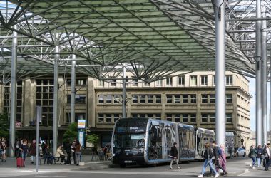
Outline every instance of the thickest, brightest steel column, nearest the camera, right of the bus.
<path fill-rule="evenodd" d="M 218 145 L 225 145 L 225 1 L 215 4 L 215 135 Z"/>

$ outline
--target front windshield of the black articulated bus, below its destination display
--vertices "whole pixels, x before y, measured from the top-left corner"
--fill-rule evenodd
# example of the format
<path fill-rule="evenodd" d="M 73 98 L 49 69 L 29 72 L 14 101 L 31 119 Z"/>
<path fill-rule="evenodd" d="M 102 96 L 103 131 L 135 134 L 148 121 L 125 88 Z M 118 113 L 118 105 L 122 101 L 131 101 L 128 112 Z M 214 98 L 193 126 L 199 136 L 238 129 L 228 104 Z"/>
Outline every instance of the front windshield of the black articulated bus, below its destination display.
<path fill-rule="evenodd" d="M 145 145 L 144 133 L 117 133 L 114 136 L 113 148 L 143 148 Z"/>

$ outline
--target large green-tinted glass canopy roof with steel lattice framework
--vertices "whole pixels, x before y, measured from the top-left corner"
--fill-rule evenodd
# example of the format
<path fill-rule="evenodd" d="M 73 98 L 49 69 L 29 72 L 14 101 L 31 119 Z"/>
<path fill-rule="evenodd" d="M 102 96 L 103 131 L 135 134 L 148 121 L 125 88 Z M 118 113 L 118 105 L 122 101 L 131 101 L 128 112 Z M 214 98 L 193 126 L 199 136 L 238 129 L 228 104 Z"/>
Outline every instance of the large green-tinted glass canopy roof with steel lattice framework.
<path fill-rule="evenodd" d="M 262 4 L 270 16 L 270 1 Z M 58 45 L 60 73 L 70 73 L 72 54 L 77 73 L 100 79 L 118 75 L 120 64 L 148 82 L 176 71 L 215 70 L 214 6 L 211 0 L 1 1 L 1 70 L 10 75 L 13 31 L 21 77 L 53 73 Z M 227 19 L 253 12 L 253 1 L 227 3 Z M 236 31 L 247 28 L 255 21 L 227 22 L 226 70 L 254 76 L 255 31 Z"/>

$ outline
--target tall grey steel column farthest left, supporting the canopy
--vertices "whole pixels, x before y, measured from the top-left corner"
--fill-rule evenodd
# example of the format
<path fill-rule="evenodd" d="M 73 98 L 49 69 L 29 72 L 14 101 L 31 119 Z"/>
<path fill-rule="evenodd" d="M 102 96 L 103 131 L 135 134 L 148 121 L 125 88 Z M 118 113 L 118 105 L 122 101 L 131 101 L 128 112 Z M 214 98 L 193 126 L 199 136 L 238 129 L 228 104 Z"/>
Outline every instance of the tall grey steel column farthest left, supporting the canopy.
<path fill-rule="evenodd" d="M 14 26 L 17 29 L 17 26 Z M 17 36 L 17 32 L 13 32 L 13 36 Z M 11 113 L 9 123 L 9 156 L 14 157 L 14 144 L 15 144 L 15 121 L 16 121 L 16 98 L 17 98 L 17 38 L 12 39 L 11 48 Z"/>

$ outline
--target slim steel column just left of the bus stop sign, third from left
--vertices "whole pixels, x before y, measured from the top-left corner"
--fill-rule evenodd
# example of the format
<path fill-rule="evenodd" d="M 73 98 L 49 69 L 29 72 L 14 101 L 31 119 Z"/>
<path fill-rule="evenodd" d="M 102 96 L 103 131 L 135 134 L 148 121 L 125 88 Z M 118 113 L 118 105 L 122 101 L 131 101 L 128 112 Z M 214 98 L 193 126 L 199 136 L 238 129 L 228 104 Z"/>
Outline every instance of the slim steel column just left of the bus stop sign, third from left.
<path fill-rule="evenodd" d="M 76 55 L 72 55 L 71 61 L 71 123 L 75 121 L 75 98 L 76 98 Z"/>

